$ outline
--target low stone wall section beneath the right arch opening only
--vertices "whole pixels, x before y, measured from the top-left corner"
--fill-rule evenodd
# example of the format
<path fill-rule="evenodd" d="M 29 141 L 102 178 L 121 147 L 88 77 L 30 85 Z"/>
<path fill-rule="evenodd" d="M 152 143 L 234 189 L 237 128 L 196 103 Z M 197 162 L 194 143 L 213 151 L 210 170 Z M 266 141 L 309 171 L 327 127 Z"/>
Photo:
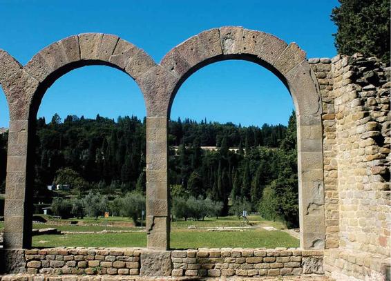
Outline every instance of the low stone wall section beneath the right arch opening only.
<path fill-rule="evenodd" d="M 260 277 L 323 275 L 323 251 L 300 249 L 198 249 L 173 251 L 173 276 Z"/>

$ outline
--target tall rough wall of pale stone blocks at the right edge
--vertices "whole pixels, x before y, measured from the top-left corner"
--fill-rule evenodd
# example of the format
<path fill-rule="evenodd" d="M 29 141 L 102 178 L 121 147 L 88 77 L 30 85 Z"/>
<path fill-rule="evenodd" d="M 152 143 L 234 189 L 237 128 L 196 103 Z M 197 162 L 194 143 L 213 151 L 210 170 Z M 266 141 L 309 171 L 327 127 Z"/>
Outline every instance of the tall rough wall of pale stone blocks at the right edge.
<path fill-rule="evenodd" d="M 309 64 L 323 102 L 325 272 L 382 280 L 391 245 L 390 68 L 360 54 Z"/>

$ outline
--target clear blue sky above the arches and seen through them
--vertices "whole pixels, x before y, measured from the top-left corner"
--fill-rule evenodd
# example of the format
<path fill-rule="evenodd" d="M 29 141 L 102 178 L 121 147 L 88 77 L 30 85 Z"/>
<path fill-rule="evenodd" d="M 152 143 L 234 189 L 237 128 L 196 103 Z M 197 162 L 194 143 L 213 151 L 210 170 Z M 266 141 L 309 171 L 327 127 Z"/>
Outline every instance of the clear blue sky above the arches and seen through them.
<path fill-rule="evenodd" d="M 307 57 L 334 57 L 337 0 L 281 1 L 47 1 L 1 0 L 0 48 L 21 64 L 50 43 L 82 32 L 120 36 L 143 48 L 155 61 L 202 30 L 244 26 L 295 41 Z M 8 126 L 6 99 L 0 93 L 0 127 Z M 198 70 L 184 82 L 171 117 L 234 122 L 242 125 L 287 124 L 293 103 L 285 86 L 247 61 L 222 61 Z M 73 70 L 48 89 L 39 110 L 95 117 L 97 113 L 144 116 L 144 101 L 133 80 L 105 66 Z"/>

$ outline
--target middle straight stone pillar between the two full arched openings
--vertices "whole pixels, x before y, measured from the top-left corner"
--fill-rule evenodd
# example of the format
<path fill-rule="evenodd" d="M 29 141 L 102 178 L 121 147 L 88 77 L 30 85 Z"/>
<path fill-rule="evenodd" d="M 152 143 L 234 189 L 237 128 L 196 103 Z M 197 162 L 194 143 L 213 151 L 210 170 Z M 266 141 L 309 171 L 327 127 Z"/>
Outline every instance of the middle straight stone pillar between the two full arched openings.
<path fill-rule="evenodd" d="M 146 117 L 146 241 L 149 249 L 170 247 L 167 117 Z"/>

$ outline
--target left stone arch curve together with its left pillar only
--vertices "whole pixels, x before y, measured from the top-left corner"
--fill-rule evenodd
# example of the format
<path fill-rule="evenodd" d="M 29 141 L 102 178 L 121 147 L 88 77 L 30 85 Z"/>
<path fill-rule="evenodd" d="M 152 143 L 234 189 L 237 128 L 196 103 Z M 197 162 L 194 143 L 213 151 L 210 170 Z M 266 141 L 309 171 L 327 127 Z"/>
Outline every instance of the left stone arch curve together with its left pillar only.
<path fill-rule="evenodd" d="M 115 35 L 84 33 L 39 51 L 26 66 L 0 50 L 0 84 L 10 110 L 4 247 L 31 246 L 30 168 L 32 137 L 41 99 L 59 77 L 75 68 L 105 65 L 122 70 L 140 86 L 153 59 Z M 145 100 L 145 99 L 144 99 Z"/>

